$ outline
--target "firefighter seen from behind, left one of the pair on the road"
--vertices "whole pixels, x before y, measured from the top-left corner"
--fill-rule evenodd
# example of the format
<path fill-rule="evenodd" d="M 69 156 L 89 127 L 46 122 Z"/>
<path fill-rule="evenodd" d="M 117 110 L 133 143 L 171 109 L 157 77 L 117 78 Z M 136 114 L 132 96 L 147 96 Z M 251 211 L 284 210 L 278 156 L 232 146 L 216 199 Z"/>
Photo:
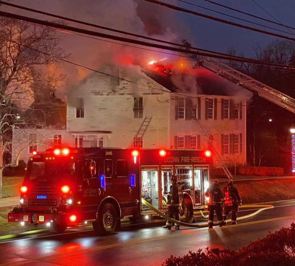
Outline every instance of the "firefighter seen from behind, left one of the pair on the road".
<path fill-rule="evenodd" d="M 209 197 L 208 205 L 208 226 L 209 229 L 213 228 L 214 211 L 216 212 L 219 226 L 223 226 L 224 222 L 222 219 L 222 202 L 224 201 L 224 194 L 219 187 L 218 180 L 213 180 L 213 183 L 207 189 L 205 193 L 206 197 Z"/>

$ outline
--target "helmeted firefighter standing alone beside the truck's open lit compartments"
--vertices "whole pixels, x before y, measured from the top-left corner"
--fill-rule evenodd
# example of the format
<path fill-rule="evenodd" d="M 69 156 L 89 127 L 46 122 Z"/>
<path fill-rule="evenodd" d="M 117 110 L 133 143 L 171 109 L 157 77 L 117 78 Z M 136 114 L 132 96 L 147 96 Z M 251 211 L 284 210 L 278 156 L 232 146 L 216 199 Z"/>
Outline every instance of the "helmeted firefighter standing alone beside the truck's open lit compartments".
<path fill-rule="evenodd" d="M 181 202 L 182 202 L 182 190 L 181 186 L 177 184 L 177 176 L 172 175 L 171 176 L 171 186 L 170 186 L 170 192 L 168 194 L 168 212 L 167 215 L 175 219 L 176 221 L 180 221 L 179 219 L 179 208 L 181 207 Z M 166 225 L 163 226 L 164 229 L 171 229 L 171 221 L 166 221 Z M 178 224 L 175 224 L 175 229 L 180 229 L 180 226 Z"/>

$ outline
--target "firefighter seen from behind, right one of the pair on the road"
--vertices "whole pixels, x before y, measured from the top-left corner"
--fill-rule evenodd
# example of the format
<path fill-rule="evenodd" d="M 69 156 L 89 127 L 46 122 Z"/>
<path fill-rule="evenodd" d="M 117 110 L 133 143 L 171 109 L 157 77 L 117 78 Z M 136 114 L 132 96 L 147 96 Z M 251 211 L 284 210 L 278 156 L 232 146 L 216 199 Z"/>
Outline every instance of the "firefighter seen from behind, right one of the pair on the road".
<path fill-rule="evenodd" d="M 228 180 L 227 186 L 223 189 L 225 195 L 223 221 L 225 223 L 227 215 L 232 211 L 232 224 L 237 224 L 237 212 L 242 200 L 239 191 L 233 185 L 232 179 Z"/>

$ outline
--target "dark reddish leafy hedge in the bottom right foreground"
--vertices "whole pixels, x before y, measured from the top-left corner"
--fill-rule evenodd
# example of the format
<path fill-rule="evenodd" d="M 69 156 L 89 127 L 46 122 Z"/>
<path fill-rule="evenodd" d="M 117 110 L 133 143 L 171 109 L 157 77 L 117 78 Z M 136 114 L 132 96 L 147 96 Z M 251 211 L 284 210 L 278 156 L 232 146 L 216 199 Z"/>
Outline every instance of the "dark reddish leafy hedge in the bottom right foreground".
<path fill-rule="evenodd" d="M 198 249 L 183 257 L 166 259 L 162 266 L 294 266 L 295 224 L 269 233 L 239 250 Z"/>

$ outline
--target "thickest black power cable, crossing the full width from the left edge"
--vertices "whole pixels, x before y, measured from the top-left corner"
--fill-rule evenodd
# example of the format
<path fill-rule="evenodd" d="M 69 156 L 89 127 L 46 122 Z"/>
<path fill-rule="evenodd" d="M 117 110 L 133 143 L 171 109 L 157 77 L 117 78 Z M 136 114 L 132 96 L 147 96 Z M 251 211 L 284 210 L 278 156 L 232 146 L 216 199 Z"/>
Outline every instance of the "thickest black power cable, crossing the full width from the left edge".
<path fill-rule="evenodd" d="M 102 32 L 95 32 L 95 31 L 90 31 L 87 29 L 71 27 L 68 25 L 57 24 L 54 22 L 44 21 L 44 20 L 40 20 L 40 19 L 34 19 L 34 18 L 25 17 L 25 16 L 21 16 L 21 15 L 17 15 L 17 14 L 3 12 L 3 11 L 0 11 L 0 16 L 9 17 L 12 19 L 18 19 L 18 20 L 36 23 L 36 24 L 41 24 L 41 25 L 44 25 L 47 27 L 64 29 L 64 30 L 69 30 L 69 31 L 73 31 L 73 32 L 83 33 L 86 35 L 97 36 L 97 37 L 102 37 L 102 38 L 111 39 L 111 40 L 117 40 L 117 41 L 121 41 L 121 42 L 128 42 L 128 43 L 133 43 L 133 44 L 143 45 L 143 46 L 148 46 L 148 47 L 153 47 L 153 48 L 159 48 L 159 49 L 163 49 L 163 50 L 170 50 L 170 51 L 174 51 L 174 52 L 181 52 L 181 53 L 185 53 L 185 54 L 219 58 L 219 59 L 224 59 L 224 60 L 233 60 L 233 61 L 239 61 L 239 62 L 247 62 L 247 63 L 266 65 L 266 66 L 285 68 L 285 69 L 293 69 L 293 70 L 295 69 L 295 66 L 290 66 L 290 65 L 280 65 L 280 64 L 267 63 L 267 62 L 262 62 L 259 60 L 254 60 L 254 59 L 249 59 L 249 58 L 236 58 L 231 55 L 227 55 L 227 56 L 216 55 L 216 54 L 213 55 L 213 54 L 206 53 L 206 52 L 199 52 L 199 51 L 187 50 L 187 49 L 184 50 L 184 49 L 181 49 L 178 47 L 171 47 L 171 46 L 155 44 L 155 43 L 150 43 L 150 42 L 145 42 L 145 41 L 140 41 L 140 40 L 134 40 L 134 39 L 126 38 L 126 37 L 120 37 L 120 36 L 116 36 L 116 35 L 109 35 L 109 34 L 102 33 Z"/>

